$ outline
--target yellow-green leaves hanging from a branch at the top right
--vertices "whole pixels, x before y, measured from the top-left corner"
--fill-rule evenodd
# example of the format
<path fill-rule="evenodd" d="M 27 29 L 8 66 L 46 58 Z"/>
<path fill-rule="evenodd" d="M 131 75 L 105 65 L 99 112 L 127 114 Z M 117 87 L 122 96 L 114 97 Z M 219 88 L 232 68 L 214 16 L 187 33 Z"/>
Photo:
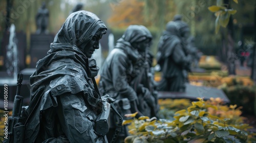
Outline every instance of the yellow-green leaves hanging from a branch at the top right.
<path fill-rule="evenodd" d="M 233 0 L 238 4 L 238 0 Z M 215 20 L 215 33 L 217 34 L 220 27 L 226 28 L 229 22 L 230 15 L 236 14 L 237 10 L 228 9 L 227 5 L 223 5 L 222 0 L 217 0 L 217 5 L 208 7 L 209 11 L 215 12 L 217 17 Z"/>

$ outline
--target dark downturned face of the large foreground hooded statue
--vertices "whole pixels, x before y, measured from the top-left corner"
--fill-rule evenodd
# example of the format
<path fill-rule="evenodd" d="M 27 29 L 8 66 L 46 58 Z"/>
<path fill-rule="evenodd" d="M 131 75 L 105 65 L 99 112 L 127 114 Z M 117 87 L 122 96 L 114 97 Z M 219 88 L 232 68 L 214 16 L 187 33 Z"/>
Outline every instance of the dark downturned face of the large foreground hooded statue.
<path fill-rule="evenodd" d="M 99 49 L 99 40 L 101 39 L 102 35 L 102 31 L 99 30 L 95 33 L 95 35 L 87 45 L 82 45 L 83 53 L 86 55 L 87 58 L 91 58 L 94 51 L 96 49 Z"/>

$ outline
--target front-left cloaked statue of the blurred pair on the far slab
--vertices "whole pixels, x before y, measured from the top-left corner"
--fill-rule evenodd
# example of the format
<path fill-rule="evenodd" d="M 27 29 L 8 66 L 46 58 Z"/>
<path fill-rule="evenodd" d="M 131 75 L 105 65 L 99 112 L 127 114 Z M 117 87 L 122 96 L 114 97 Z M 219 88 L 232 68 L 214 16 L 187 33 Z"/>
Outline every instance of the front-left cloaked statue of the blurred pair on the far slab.
<path fill-rule="evenodd" d="M 160 37 L 157 54 L 157 62 L 162 71 L 162 79 L 158 84 L 160 91 L 185 91 L 184 71 L 189 68 L 191 61 L 181 38 L 185 30 L 177 21 L 169 21 Z"/>

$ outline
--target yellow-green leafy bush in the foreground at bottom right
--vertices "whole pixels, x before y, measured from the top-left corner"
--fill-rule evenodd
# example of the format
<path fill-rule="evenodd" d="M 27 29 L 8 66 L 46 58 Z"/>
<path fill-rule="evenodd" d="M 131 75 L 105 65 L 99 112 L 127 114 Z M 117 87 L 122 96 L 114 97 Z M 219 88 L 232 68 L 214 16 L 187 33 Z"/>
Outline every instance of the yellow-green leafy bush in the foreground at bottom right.
<path fill-rule="evenodd" d="M 249 133 L 250 127 L 238 121 L 229 122 L 230 118 L 224 118 L 220 114 L 213 115 L 209 108 L 216 111 L 239 111 L 236 106 L 226 107 L 222 110 L 218 105 L 198 98 L 199 101 L 192 102 L 186 109 L 175 113 L 175 120 L 154 120 L 148 117 L 134 118 L 124 121 L 134 123 L 134 128 L 129 131 L 131 134 L 125 138 L 125 142 L 252 142 L 255 141 L 255 134 Z M 218 103 L 218 102 L 217 102 Z M 236 114 L 229 112 L 228 114 Z M 234 117 L 234 116 L 233 116 Z M 234 123 L 234 124 L 233 124 Z"/>

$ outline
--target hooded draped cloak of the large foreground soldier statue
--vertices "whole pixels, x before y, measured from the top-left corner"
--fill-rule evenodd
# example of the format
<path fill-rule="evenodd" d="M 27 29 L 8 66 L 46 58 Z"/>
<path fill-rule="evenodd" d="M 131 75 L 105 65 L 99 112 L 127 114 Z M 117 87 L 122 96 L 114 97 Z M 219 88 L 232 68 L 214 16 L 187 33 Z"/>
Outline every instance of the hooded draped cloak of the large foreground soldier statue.
<path fill-rule="evenodd" d="M 27 121 L 25 142 L 35 141 L 40 128 L 40 112 L 57 107 L 57 96 L 81 93 L 92 107 L 98 106 L 100 97 L 94 94 L 90 82 L 98 67 L 89 66 L 89 59 L 79 45 L 89 43 L 99 29 L 106 30 L 106 27 L 93 13 L 72 13 L 56 34 L 48 55 L 37 62 L 36 71 L 30 77 L 31 98 L 27 114 L 32 114 Z"/>

